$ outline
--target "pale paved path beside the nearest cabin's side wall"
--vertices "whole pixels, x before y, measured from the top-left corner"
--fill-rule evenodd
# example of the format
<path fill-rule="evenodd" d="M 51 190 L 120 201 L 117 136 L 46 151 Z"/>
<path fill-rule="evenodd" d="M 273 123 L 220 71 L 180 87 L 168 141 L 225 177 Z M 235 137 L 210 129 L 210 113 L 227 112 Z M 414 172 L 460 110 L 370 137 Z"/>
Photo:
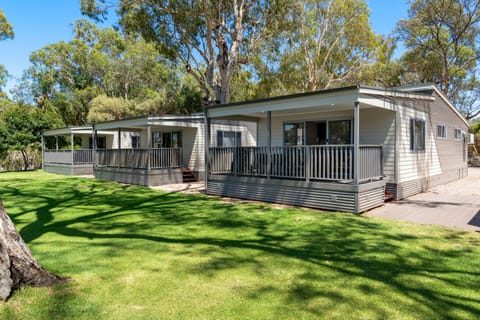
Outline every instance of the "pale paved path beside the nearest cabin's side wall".
<path fill-rule="evenodd" d="M 386 203 L 366 216 L 480 232 L 480 168 L 468 168 L 467 178 Z"/>

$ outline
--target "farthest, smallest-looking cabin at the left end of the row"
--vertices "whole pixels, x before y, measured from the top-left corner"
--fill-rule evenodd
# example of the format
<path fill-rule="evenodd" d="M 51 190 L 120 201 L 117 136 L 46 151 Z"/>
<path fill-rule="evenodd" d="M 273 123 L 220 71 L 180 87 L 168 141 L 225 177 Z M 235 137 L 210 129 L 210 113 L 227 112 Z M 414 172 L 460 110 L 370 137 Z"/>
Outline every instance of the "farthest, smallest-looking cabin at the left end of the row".
<path fill-rule="evenodd" d="M 98 148 L 111 147 L 112 132 L 97 134 Z M 66 175 L 93 175 L 93 129 L 91 126 L 49 129 L 42 132 L 42 168 Z"/>

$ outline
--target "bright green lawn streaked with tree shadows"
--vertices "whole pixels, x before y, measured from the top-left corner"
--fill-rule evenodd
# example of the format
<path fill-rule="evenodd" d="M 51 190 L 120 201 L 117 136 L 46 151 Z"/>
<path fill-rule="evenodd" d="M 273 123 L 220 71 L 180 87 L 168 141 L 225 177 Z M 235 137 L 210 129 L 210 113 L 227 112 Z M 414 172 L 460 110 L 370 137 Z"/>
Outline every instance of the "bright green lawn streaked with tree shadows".
<path fill-rule="evenodd" d="M 40 171 L 0 173 L 42 265 L 1 319 L 473 319 L 480 234 L 232 204 Z"/>

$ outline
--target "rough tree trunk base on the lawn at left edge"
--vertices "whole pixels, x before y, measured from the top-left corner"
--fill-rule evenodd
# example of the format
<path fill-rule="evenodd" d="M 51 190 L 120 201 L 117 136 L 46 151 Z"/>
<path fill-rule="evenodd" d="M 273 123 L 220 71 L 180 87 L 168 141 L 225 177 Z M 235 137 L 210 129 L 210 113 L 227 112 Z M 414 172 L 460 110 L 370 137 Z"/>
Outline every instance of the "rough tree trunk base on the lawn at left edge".
<path fill-rule="evenodd" d="M 45 287 L 66 281 L 35 260 L 0 200 L 0 299 L 25 285 Z"/>

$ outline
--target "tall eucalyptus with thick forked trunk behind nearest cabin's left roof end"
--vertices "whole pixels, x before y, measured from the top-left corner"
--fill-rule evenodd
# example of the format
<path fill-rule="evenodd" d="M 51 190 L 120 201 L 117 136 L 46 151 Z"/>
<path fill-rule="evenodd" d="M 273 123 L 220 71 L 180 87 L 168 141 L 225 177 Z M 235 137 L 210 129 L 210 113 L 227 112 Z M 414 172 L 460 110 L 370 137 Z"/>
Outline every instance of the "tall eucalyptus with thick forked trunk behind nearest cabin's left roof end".
<path fill-rule="evenodd" d="M 127 32 L 142 34 L 173 61 L 181 61 L 205 103 L 228 103 L 239 66 L 248 64 L 283 0 L 119 0 L 114 5 Z M 82 0 L 82 11 L 105 16 L 105 0 Z"/>

